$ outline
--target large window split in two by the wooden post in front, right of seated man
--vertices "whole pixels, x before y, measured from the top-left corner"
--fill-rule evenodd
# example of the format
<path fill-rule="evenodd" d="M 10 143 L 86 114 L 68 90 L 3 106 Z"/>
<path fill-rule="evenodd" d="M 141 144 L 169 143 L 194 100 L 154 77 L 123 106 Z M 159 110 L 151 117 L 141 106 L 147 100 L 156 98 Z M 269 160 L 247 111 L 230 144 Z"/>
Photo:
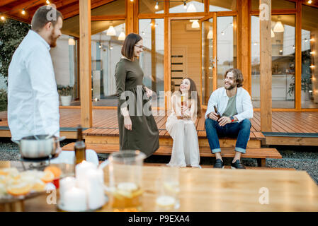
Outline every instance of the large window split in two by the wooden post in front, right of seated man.
<path fill-rule="evenodd" d="M 251 95 L 254 107 L 260 107 L 259 17 L 251 16 Z M 272 106 L 295 108 L 295 15 L 273 15 Z"/>

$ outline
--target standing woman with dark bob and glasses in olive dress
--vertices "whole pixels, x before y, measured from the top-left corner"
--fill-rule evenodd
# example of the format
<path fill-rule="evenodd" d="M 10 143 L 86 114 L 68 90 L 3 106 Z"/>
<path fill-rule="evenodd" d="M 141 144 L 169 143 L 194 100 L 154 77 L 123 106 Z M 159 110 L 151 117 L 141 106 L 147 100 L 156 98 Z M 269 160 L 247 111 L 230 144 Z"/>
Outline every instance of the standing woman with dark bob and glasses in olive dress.
<path fill-rule="evenodd" d="M 148 102 L 152 90 L 142 84 L 144 73 L 137 60 L 142 50 L 142 37 L 127 35 L 115 68 L 118 128 L 120 150 L 140 150 L 149 157 L 159 148 L 159 131 Z"/>

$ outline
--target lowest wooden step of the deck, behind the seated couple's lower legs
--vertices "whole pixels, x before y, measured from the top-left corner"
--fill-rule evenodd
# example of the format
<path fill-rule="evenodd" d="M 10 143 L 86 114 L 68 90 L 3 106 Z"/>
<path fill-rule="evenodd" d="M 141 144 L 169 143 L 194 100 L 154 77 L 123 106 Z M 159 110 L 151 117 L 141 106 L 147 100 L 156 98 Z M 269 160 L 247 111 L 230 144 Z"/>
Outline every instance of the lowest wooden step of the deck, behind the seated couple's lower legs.
<path fill-rule="evenodd" d="M 95 150 L 96 153 L 113 153 L 119 151 L 119 145 L 114 144 L 100 144 L 100 143 L 86 143 L 87 149 Z M 65 145 L 63 150 L 74 150 L 74 143 L 69 143 Z M 154 155 L 171 155 L 171 146 L 162 145 L 154 153 Z M 222 148 L 222 157 L 234 157 L 235 152 L 234 148 Z M 200 147 L 200 156 L 201 157 L 215 157 L 215 154 L 212 154 L 210 148 Z M 258 160 L 259 166 L 266 166 L 266 158 L 276 158 L 280 159 L 282 156 L 276 148 L 247 148 L 246 153 L 242 157 L 256 158 Z"/>

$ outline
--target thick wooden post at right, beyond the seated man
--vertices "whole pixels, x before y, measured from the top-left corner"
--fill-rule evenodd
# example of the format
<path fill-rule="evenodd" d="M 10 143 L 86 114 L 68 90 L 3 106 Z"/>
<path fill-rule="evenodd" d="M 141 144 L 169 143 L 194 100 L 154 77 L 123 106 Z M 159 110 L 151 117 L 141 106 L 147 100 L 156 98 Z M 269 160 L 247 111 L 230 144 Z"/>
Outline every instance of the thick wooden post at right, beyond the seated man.
<path fill-rule="evenodd" d="M 260 86 L 261 86 L 261 131 L 272 128 L 272 44 L 271 44 L 271 0 L 260 0 Z"/>

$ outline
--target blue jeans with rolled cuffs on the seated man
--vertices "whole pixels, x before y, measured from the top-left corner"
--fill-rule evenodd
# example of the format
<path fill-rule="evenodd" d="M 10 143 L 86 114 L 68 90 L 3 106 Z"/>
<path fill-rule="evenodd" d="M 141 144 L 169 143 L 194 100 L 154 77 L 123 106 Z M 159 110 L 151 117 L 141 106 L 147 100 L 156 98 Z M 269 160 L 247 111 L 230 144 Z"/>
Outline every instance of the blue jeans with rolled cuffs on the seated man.
<path fill-rule="evenodd" d="M 240 153 L 245 153 L 246 145 L 249 141 L 249 133 L 251 132 L 251 121 L 244 119 L 241 122 L 233 122 L 225 126 L 219 126 L 217 121 L 205 119 L 205 131 L 212 153 L 221 152 L 219 143 L 219 138 L 221 137 L 237 138 L 235 150 Z"/>

